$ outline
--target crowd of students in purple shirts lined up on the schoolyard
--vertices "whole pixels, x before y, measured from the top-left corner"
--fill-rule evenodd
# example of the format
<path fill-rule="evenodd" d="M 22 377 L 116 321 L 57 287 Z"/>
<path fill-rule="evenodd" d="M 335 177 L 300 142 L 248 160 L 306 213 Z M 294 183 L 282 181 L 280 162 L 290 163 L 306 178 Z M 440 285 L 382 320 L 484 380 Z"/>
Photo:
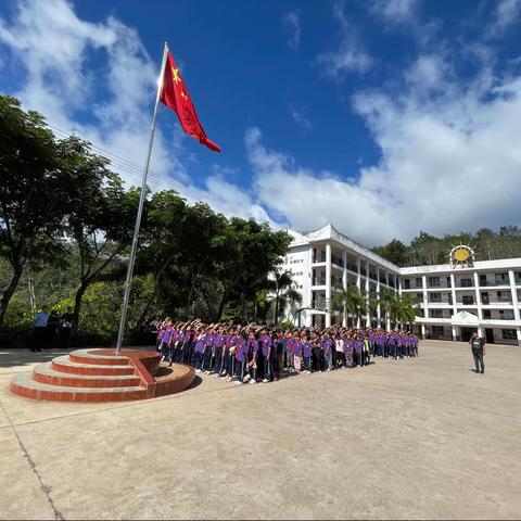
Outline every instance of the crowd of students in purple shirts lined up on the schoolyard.
<path fill-rule="evenodd" d="M 204 325 L 199 320 L 157 326 L 162 359 L 192 365 L 216 378 L 257 383 L 278 380 L 284 371 L 310 373 L 364 367 L 374 356 L 418 356 L 410 332 L 381 329 L 281 330 L 266 326 Z"/>

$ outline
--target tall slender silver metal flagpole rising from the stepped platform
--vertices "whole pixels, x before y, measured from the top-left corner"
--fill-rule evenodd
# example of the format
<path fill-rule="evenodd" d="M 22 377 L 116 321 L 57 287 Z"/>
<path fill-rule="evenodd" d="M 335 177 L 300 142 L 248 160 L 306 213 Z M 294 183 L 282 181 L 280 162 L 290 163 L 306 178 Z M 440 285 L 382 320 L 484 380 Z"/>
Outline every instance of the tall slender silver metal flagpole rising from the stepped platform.
<path fill-rule="evenodd" d="M 165 42 L 165 48 L 163 49 L 163 62 L 161 64 L 161 74 L 160 74 L 160 79 L 157 80 L 157 96 L 155 97 L 154 115 L 152 117 L 152 127 L 150 130 L 149 150 L 147 152 L 147 161 L 144 163 L 144 169 L 143 169 L 143 180 L 141 182 L 141 193 L 139 195 L 138 215 L 136 216 L 136 226 L 134 227 L 132 247 L 130 250 L 130 258 L 128 260 L 128 267 L 127 267 L 127 277 L 125 279 L 125 293 L 123 296 L 119 330 L 117 332 L 116 355 L 119 354 L 119 350 L 122 348 L 123 335 L 125 333 L 125 323 L 127 321 L 127 309 L 128 309 L 128 301 L 130 297 L 130 287 L 132 284 L 134 264 L 136 262 L 136 252 L 138 250 L 139 228 L 141 226 L 141 216 L 143 213 L 144 198 L 145 198 L 145 191 L 147 191 L 147 177 L 149 175 L 149 165 L 150 165 L 150 157 L 152 155 L 152 145 L 154 144 L 155 122 L 157 119 L 157 109 L 160 106 L 161 89 L 163 88 L 163 80 L 165 77 L 165 65 L 166 65 L 167 52 L 168 52 L 168 46 Z"/>

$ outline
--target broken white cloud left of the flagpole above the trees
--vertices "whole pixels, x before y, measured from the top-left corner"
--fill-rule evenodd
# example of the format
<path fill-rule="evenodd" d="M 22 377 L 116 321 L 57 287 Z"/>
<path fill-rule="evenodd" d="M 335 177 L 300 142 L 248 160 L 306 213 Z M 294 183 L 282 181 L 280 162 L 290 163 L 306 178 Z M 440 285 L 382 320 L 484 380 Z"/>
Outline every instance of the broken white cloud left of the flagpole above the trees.
<path fill-rule="evenodd" d="M 24 106 L 66 132 L 143 164 L 158 62 L 150 59 L 136 30 L 112 16 L 85 22 L 65 0 L 24 0 L 11 23 L 0 17 L 1 43 L 25 74 L 13 92 Z M 102 62 L 97 66 L 94 52 Z M 103 102 L 98 102 L 100 91 L 106 92 Z M 171 151 L 182 153 L 179 134 L 167 140 L 160 129 L 152 166 L 182 177 L 186 169 Z M 113 165 L 129 182 L 139 183 L 139 175 L 119 166 Z"/>

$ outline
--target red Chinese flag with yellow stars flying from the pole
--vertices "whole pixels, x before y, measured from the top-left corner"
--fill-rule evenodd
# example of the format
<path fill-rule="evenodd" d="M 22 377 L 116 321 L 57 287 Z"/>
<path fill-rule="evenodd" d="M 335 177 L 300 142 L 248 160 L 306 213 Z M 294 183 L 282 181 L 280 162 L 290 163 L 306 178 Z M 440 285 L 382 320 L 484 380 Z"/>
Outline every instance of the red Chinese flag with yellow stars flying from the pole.
<path fill-rule="evenodd" d="M 189 136 L 195 138 L 208 149 L 220 152 L 220 148 L 211 141 L 203 130 L 181 73 L 169 50 L 166 55 L 165 75 L 163 77 L 160 100 L 177 114 L 182 129 Z"/>

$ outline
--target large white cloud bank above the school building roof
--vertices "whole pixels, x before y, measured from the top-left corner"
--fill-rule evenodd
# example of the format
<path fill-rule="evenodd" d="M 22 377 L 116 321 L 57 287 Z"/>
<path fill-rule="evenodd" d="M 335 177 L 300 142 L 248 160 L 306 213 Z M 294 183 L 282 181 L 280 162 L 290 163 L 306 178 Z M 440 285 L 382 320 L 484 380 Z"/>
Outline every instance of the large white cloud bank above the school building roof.
<path fill-rule="evenodd" d="M 260 203 L 298 230 L 331 221 L 368 244 L 408 240 L 419 230 L 520 225 L 521 78 L 478 78 L 462 89 L 443 71 L 421 56 L 401 96 L 376 90 L 355 97 L 381 161 L 343 173 L 356 174 L 352 180 L 297 165 L 251 129 L 246 145 Z M 425 86 L 437 94 L 425 97 Z"/>

